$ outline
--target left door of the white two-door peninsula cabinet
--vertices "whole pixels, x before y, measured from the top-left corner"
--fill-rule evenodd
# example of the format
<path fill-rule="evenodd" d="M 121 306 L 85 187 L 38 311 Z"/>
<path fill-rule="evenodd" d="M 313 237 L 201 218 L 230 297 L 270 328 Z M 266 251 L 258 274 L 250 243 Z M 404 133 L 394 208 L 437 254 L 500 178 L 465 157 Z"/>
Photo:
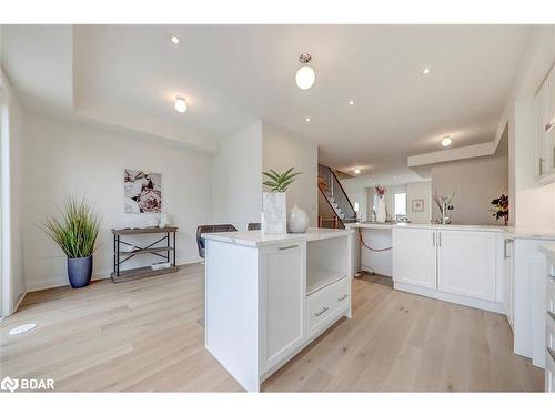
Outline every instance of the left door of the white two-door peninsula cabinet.
<path fill-rule="evenodd" d="M 435 231 L 393 230 L 393 281 L 436 288 Z"/>

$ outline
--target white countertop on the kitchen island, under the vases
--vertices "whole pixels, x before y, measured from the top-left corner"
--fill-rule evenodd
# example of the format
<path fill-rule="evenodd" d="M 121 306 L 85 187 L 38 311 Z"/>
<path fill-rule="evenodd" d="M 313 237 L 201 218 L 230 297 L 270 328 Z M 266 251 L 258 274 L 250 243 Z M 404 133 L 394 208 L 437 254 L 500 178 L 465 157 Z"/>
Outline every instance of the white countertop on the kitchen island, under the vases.
<path fill-rule="evenodd" d="M 309 229 L 306 233 L 262 234 L 260 230 L 256 230 L 256 231 L 232 231 L 224 233 L 208 233 L 208 234 L 202 234 L 201 236 L 205 240 L 214 240 L 230 244 L 260 247 L 263 245 L 293 243 L 300 241 L 334 239 L 334 237 L 351 235 L 353 233 L 354 233 L 353 230 Z"/>

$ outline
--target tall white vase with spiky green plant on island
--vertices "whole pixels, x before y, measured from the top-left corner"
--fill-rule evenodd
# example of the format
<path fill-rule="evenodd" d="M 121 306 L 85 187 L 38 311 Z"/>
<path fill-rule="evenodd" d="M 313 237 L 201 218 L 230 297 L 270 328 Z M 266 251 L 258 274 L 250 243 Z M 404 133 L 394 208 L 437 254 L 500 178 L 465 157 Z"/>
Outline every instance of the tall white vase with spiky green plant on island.
<path fill-rule="evenodd" d="M 262 233 L 285 234 L 287 232 L 287 204 L 285 191 L 301 172 L 294 172 L 294 168 L 283 173 L 274 170 L 262 172 L 265 176 L 263 184 L 270 187 L 270 192 L 263 193 L 262 200 Z"/>

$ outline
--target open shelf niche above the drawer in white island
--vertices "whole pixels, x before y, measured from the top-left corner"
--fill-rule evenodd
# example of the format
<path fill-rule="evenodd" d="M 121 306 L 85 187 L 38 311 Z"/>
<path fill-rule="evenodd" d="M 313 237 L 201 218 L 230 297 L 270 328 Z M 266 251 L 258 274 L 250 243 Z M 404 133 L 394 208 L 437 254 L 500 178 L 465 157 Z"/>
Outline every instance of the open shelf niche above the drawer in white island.
<path fill-rule="evenodd" d="M 306 295 L 349 275 L 347 236 L 306 243 Z"/>

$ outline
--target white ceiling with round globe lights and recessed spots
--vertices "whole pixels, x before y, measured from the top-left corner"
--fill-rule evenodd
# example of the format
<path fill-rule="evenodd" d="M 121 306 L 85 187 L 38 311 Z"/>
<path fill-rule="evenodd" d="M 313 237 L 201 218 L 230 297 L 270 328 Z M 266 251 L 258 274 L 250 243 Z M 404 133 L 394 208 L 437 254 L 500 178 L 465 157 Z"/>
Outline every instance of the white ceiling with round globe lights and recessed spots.
<path fill-rule="evenodd" d="M 406 158 L 441 150 L 445 134 L 452 135 L 454 146 L 493 141 L 529 30 L 525 26 L 60 28 L 4 28 L 4 68 L 27 98 L 46 100 L 52 85 L 67 82 L 67 71 L 47 71 L 48 82 L 38 82 L 40 75 L 34 73 L 56 69 L 52 62 L 58 59 L 68 61 L 68 47 L 59 44 L 65 42 L 50 37 L 46 45 L 48 37 L 41 35 L 63 31 L 72 40 L 69 95 L 78 113 L 208 151 L 260 119 L 319 143 L 321 162 L 351 172 L 363 168 L 362 175 L 375 182 L 394 174 L 402 182 L 417 180 L 406 168 Z M 170 44 L 170 33 L 182 37 L 183 44 Z M 36 43 L 42 53 L 33 51 Z M 313 55 L 316 72 L 307 91 L 294 83 L 303 52 Z M 424 67 L 433 68 L 427 77 L 420 73 Z M 185 114 L 172 108 L 176 94 L 188 100 Z M 355 105 L 347 104 L 351 99 Z"/>

